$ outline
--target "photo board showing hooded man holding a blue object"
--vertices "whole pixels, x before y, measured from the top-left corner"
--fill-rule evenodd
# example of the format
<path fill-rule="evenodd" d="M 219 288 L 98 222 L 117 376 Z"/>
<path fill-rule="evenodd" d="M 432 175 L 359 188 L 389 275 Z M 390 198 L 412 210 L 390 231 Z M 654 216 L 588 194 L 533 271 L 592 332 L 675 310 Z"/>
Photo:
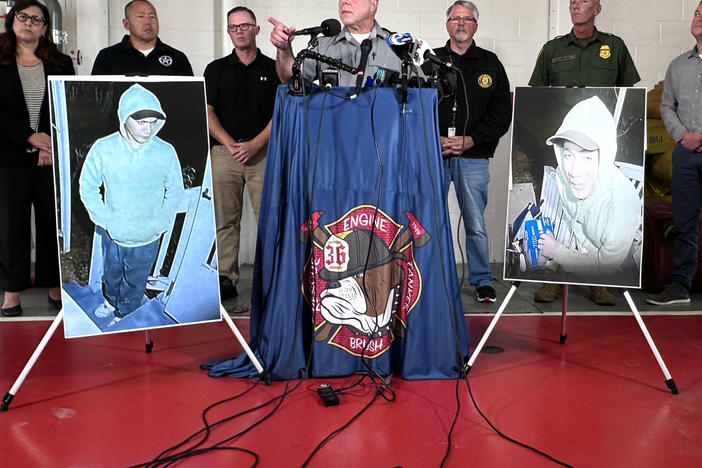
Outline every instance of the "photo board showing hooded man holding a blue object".
<path fill-rule="evenodd" d="M 645 119 L 645 88 L 516 88 L 505 280 L 640 287 Z"/>

